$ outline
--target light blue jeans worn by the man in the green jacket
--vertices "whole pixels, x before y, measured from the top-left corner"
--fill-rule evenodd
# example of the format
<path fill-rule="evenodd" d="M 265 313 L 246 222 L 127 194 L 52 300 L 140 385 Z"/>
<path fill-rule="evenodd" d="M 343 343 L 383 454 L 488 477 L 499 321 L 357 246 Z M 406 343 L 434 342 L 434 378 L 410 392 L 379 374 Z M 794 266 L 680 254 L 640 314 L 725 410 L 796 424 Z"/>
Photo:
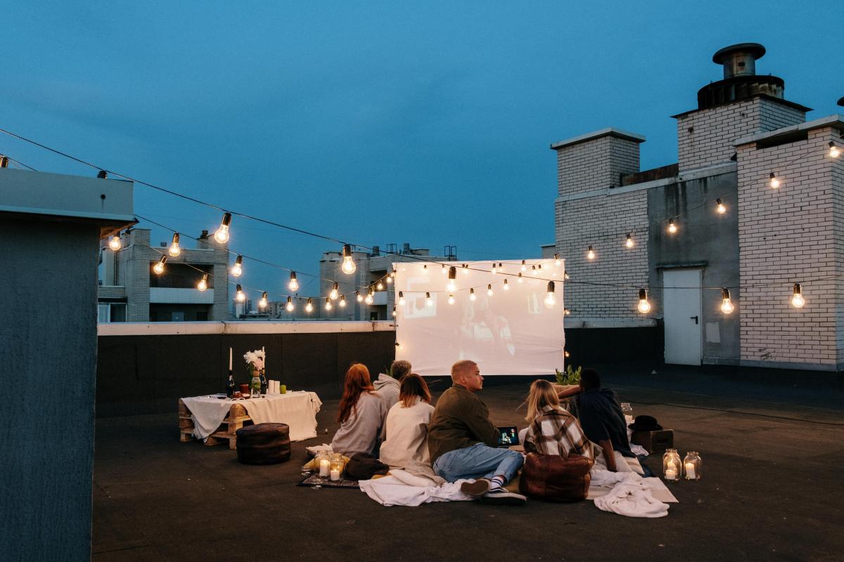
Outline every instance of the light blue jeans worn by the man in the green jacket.
<path fill-rule="evenodd" d="M 459 479 L 492 478 L 502 474 L 507 482 L 516 476 L 524 464 L 522 453 L 510 449 L 495 449 L 484 443 L 455 449 L 437 458 L 434 472 L 449 482 Z"/>

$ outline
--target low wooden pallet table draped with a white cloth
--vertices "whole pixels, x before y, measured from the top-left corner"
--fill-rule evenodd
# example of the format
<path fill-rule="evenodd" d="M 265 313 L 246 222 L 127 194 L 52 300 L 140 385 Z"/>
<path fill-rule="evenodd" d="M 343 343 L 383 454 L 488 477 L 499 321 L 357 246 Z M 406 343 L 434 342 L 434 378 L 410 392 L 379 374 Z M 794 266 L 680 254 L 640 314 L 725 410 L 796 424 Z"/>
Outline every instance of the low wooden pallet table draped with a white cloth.
<path fill-rule="evenodd" d="M 244 425 L 284 423 L 290 428 L 290 441 L 304 441 L 317 436 L 317 412 L 321 406 L 317 393 L 306 390 L 265 394 L 257 399 L 183 398 L 179 399 L 180 439 L 186 442 L 195 437 L 206 445 L 227 440 L 229 448 L 234 449 L 236 431 Z"/>

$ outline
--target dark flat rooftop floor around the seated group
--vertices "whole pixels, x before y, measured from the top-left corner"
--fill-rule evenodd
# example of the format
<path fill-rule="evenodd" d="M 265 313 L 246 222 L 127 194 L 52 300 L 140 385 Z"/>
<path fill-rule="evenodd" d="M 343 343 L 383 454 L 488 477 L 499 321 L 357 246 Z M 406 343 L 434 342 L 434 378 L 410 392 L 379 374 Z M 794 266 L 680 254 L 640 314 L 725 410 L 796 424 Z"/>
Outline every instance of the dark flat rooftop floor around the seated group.
<path fill-rule="evenodd" d="M 840 559 L 840 378 L 793 388 L 713 370 L 606 373 L 634 415 L 674 428 L 681 455 L 701 452 L 700 482 L 668 484 L 679 500 L 668 517 L 620 517 L 588 500 L 383 507 L 358 490 L 297 487 L 304 447 L 337 428 L 332 400 L 317 416 L 319 438 L 268 467 L 179 442 L 175 414 L 97 420 L 93 559 Z M 521 427 L 526 393 L 527 383 L 508 383 L 480 396 L 496 424 Z M 661 458 L 648 465 L 661 472 Z"/>

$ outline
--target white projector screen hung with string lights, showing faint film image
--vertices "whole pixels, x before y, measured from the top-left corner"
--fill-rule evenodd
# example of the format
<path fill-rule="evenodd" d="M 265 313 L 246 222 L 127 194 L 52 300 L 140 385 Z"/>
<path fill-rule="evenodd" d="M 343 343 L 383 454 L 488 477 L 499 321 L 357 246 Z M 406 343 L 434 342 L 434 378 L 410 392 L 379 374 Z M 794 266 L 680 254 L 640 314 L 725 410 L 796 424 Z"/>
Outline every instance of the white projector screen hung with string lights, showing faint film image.
<path fill-rule="evenodd" d="M 470 269 L 464 269 L 463 263 Z M 499 263 L 499 262 L 495 262 Z M 441 376 L 452 363 L 470 359 L 482 375 L 548 375 L 562 370 L 563 272 L 555 260 L 503 261 L 511 275 L 491 273 L 491 261 L 438 263 L 398 262 L 393 289 L 396 302 L 396 358 L 413 364 L 420 375 Z M 454 304 L 448 304 L 448 265 L 457 268 Z M 533 265 L 542 265 L 533 276 Z M 504 280 L 509 290 L 504 290 Z M 555 282 L 553 308 L 545 304 L 548 281 Z M 487 295 L 492 285 L 493 295 Z M 475 300 L 470 300 L 469 289 Z M 403 293 L 401 304 L 398 292 Z M 425 303 L 430 292 L 431 304 Z"/>

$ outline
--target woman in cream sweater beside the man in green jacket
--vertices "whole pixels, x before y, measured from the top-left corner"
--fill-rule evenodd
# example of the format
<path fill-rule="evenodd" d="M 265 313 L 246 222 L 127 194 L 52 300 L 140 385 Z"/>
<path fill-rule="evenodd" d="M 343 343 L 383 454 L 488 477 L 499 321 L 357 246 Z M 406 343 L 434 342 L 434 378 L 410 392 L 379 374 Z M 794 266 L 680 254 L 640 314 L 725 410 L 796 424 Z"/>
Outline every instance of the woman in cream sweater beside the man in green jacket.
<path fill-rule="evenodd" d="M 387 412 L 381 463 L 414 471 L 424 465 L 430 474 L 428 424 L 434 406 L 429 402 L 430 390 L 424 378 L 416 373 L 403 377 L 398 402 Z"/>

